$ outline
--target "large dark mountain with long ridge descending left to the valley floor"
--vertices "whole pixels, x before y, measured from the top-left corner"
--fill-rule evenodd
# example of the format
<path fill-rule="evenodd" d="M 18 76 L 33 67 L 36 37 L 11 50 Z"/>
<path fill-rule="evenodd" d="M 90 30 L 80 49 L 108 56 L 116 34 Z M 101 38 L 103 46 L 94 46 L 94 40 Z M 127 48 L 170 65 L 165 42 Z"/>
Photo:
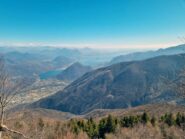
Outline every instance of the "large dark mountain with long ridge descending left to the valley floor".
<path fill-rule="evenodd" d="M 163 80 L 176 79 L 184 67 L 185 54 L 118 63 L 88 72 L 63 91 L 30 107 L 83 114 L 94 109 L 127 108 L 157 102 L 184 103 Z"/>

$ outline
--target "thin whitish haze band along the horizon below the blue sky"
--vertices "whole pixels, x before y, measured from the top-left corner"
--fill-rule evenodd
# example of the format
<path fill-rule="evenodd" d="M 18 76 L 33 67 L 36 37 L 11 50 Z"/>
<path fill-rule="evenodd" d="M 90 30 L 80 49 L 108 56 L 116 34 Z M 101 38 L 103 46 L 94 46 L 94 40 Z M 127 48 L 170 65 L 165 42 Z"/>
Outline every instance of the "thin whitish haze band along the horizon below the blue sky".
<path fill-rule="evenodd" d="M 184 43 L 169 43 L 169 44 L 52 44 L 52 43 L 1 43 L 0 47 L 56 47 L 56 48 L 71 48 L 71 49 L 160 49 L 168 48 Z"/>

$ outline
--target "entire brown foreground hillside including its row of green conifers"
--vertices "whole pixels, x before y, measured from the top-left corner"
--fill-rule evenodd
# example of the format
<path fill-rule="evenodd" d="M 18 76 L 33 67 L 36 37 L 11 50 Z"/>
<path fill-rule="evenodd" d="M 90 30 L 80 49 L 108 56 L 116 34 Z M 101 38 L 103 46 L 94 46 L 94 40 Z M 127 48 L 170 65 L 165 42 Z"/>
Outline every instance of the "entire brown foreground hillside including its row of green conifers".
<path fill-rule="evenodd" d="M 8 113 L 7 126 L 24 133 L 31 139 L 92 139 L 102 138 L 102 136 L 105 136 L 106 139 L 183 139 L 185 136 L 184 122 L 177 120 L 176 117 L 178 112 L 185 114 L 185 107 L 172 104 L 152 104 L 117 110 L 95 110 L 85 116 L 46 109 L 21 111 L 16 109 L 15 111 Z M 148 115 L 147 123 L 142 118 L 144 112 Z M 173 114 L 173 125 L 169 125 L 169 120 L 162 120 L 161 118 L 169 112 Z M 108 114 L 112 116 L 107 117 Z M 128 119 L 128 117 L 130 118 Z M 149 120 L 152 117 L 155 117 L 155 122 L 152 122 L 152 119 Z M 179 126 L 179 122 L 182 126 Z M 110 131 L 110 127 L 114 130 Z M 21 139 L 16 134 L 4 134 L 4 138 Z"/>

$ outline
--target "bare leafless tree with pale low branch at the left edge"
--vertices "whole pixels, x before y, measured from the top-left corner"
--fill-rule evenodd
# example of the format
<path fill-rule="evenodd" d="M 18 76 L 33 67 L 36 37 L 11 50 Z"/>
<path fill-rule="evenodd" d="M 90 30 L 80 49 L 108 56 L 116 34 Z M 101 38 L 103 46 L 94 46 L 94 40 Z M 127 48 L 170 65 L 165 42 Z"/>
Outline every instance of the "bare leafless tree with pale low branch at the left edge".
<path fill-rule="evenodd" d="M 22 89 L 22 82 L 12 81 L 5 67 L 3 57 L 0 57 L 0 139 L 3 132 L 11 132 L 27 138 L 19 131 L 9 129 L 4 125 L 4 114 L 8 105 Z"/>

